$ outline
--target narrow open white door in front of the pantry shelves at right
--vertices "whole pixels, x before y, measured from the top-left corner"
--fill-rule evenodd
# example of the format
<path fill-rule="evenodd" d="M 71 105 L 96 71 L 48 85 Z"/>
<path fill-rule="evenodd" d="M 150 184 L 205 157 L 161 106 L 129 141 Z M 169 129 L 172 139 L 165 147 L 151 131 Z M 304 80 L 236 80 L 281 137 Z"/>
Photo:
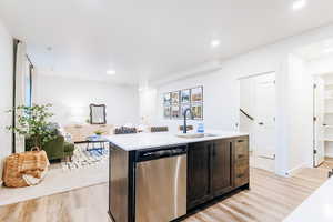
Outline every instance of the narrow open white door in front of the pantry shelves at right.
<path fill-rule="evenodd" d="M 313 149 L 314 149 L 314 167 L 319 167 L 325 157 L 324 151 L 324 80 L 320 77 L 314 78 L 314 88 L 313 88 L 313 102 L 314 102 L 314 121 L 313 121 Z"/>

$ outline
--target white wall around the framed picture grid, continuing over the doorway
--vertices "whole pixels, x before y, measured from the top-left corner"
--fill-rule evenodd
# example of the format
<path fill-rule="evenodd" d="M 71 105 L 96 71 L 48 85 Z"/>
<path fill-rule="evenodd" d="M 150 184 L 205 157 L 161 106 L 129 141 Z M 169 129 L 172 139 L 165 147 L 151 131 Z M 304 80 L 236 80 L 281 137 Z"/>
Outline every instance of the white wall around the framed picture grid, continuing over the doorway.
<path fill-rule="evenodd" d="M 163 119 L 162 97 L 164 92 L 195 85 L 204 87 L 204 124 L 206 129 L 234 130 L 239 122 L 240 90 L 238 78 L 276 72 L 276 161 L 275 172 L 285 175 L 293 169 L 289 128 L 290 93 L 285 85 L 289 79 L 289 54 L 293 50 L 333 37 L 333 26 L 315 29 L 301 36 L 287 38 L 249 53 L 222 62 L 221 69 L 211 73 L 174 80 L 158 88 L 158 117 L 155 124 L 168 124 L 175 129 L 181 121 Z M 170 78 L 169 78 L 170 79 Z M 302 159 L 303 160 L 303 159 Z"/>

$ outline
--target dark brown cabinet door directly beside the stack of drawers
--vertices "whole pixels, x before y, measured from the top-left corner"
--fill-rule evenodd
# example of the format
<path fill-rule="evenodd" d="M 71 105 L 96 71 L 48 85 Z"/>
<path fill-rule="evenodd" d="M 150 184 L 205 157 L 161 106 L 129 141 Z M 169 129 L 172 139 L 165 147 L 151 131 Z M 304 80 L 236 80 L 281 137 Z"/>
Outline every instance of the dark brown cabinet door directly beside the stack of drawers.
<path fill-rule="evenodd" d="M 232 190 L 232 141 L 213 142 L 211 169 L 213 195 L 221 195 Z"/>

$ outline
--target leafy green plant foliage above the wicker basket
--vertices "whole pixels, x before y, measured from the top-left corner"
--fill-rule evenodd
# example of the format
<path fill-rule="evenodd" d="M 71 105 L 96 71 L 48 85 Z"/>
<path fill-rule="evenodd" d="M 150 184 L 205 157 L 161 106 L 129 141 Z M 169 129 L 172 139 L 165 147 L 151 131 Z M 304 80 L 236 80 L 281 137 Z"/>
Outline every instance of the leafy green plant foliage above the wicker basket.
<path fill-rule="evenodd" d="M 8 130 L 23 135 L 26 141 L 29 141 L 28 149 L 42 147 L 56 139 L 54 130 L 50 129 L 49 118 L 53 115 L 49 111 L 52 104 L 33 104 L 32 107 L 19 105 L 16 108 L 17 123 L 14 127 L 7 127 Z M 9 112 L 12 112 L 10 110 Z"/>

